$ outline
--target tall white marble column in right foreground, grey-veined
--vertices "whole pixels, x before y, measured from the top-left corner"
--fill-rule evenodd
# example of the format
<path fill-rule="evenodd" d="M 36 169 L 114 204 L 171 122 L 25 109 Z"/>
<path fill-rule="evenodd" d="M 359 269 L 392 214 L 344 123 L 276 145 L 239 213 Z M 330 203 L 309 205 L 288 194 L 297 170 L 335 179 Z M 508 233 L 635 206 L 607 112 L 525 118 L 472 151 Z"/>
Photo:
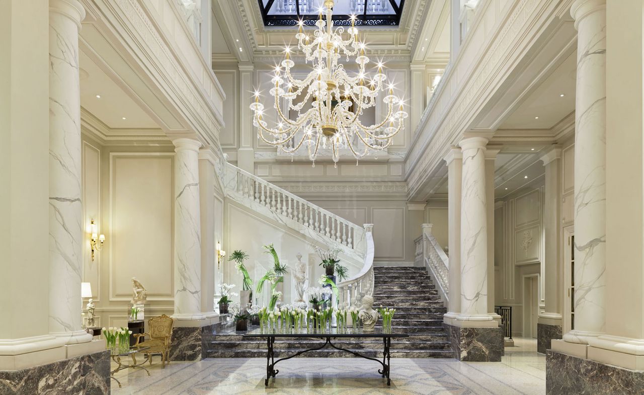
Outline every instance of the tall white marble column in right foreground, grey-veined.
<path fill-rule="evenodd" d="M 606 1 L 577 0 L 574 142 L 574 330 L 588 343 L 605 331 L 606 268 Z"/>

